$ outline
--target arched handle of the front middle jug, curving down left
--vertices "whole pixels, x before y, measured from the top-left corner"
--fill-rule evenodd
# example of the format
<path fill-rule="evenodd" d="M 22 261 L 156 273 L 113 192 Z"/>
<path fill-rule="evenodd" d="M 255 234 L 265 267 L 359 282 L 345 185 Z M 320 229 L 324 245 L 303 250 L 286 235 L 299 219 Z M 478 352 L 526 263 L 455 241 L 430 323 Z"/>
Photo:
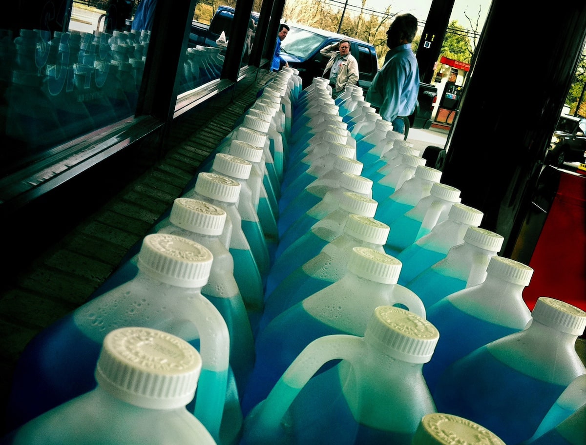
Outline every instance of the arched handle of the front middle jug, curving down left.
<path fill-rule="evenodd" d="M 331 360 L 356 360 L 364 350 L 364 340 L 347 334 L 334 334 L 312 341 L 301 351 L 277 381 L 267 398 L 251 413 L 248 422 L 253 423 L 250 432 L 264 437 L 278 433 L 281 419 L 299 391 L 311 377 Z M 250 423 L 247 427 L 250 427 Z M 251 443 L 254 443 L 252 441 Z"/>

